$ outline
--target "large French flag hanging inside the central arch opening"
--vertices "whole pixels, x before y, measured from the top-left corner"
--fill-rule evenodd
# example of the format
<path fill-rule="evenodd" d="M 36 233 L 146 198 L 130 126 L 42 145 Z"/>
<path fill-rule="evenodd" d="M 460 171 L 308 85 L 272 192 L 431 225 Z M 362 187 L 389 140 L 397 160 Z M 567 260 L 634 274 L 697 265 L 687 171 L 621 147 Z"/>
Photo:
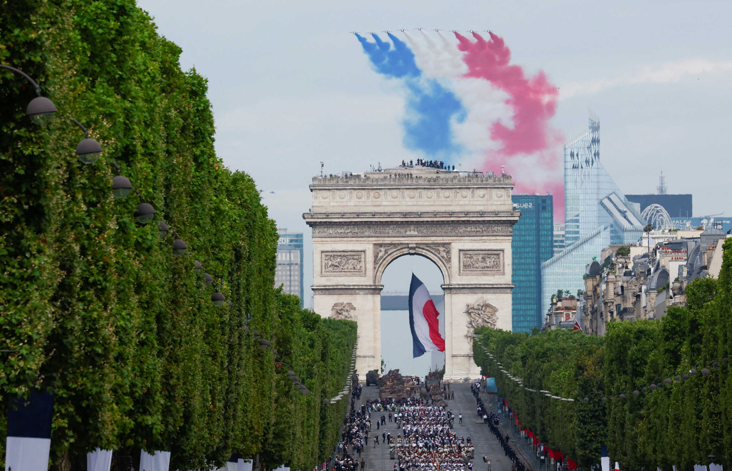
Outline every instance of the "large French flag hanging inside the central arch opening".
<path fill-rule="evenodd" d="M 445 339 L 440 335 L 440 323 L 430 292 L 417 276 L 412 274 L 409 285 L 409 328 L 412 331 L 414 358 L 433 350 L 445 351 Z"/>

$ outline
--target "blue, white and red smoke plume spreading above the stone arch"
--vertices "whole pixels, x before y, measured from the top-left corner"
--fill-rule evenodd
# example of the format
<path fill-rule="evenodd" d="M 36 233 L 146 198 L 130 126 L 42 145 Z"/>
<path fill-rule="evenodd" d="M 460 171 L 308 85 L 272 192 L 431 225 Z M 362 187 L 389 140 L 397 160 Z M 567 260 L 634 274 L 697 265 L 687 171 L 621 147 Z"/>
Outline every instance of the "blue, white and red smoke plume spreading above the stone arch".
<path fill-rule="evenodd" d="M 550 192 L 562 221 L 563 137 L 549 122 L 559 90 L 544 72 L 529 77 L 510 64 L 504 39 L 489 34 L 488 41 L 424 30 L 405 32 L 406 42 L 391 33 L 389 41 L 356 37 L 376 72 L 403 82 L 408 148 L 427 159 L 479 162 L 481 170 L 505 165 L 515 193 Z"/>

